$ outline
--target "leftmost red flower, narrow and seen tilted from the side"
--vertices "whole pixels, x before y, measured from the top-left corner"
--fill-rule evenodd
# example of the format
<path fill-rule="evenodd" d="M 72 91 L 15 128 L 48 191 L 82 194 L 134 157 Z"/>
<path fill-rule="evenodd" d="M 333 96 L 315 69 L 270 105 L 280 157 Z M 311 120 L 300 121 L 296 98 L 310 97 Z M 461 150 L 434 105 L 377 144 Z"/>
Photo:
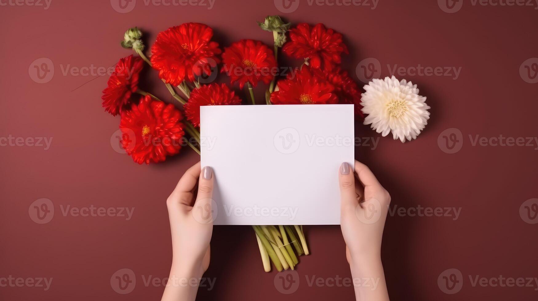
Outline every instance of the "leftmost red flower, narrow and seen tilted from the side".
<path fill-rule="evenodd" d="M 105 111 L 116 116 L 129 108 L 131 94 L 138 89 L 138 76 L 144 62 L 132 55 L 119 59 L 114 73 L 108 79 L 108 87 L 103 90 L 103 107 Z"/>

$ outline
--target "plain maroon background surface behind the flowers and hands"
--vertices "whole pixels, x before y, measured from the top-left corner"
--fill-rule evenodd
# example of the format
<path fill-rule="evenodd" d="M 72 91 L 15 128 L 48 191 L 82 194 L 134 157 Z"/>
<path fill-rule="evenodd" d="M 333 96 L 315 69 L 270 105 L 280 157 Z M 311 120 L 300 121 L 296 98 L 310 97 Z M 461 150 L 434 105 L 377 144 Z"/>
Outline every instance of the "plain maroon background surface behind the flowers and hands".
<path fill-rule="evenodd" d="M 282 13 L 273 1 L 216 1 L 208 10 L 189 5 L 146 6 L 138 0 L 132 11 L 118 13 L 109 1 L 52 0 L 46 10 L 28 5 L 30 2 L 23 6 L 14 1 L 1 3 L 8 5 L 0 7 L 0 137 L 53 140 L 47 150 L 16 144 L 0 147 L 0 299 L 160 298 L 162 285 L 146 285 L 144 280 L 168 275 L 171 242 L 165 199 L 183 171 L 199 157 L 185 149 L 165 163 L 138 166 L 130 157 L 118 154 L 110 140 L 119 118 L 105 113 L 100 101 L 108 76 L 72 71 L 109 67 L 130 54 L 119 46 L 119 40 L 134 25 L 147 32 L 146 45 L 152 44 L 159 31 L 187 21 L 212 26 L 221 45 L 241 38 L 270 44 L 271 34 L 261 31 L 256 20 L 277 13 L 293 23 L 322 22 L 342 32 L 350 48 L 344 66 L 354 78 L 357 64 L 366 58 L 380 62 L 381 76 L 389 75 L 396 65 L 461 67 L 457 79 L 415 75 L 409 69 L 397 74 L 418 84 L 421 94 L 428 97 L 432 109 L 426 130 L 406 144 L 381 137 L 374 150 L 357 147 L 357 159 L 368 164 L 391 192 L 391 209 L 461 208 L 456 220 L 409 214 L 388 218 L 383 261 L 391 298 L 537 298 L 535 282 L 532 287 L 493 286 L 494 282 L 485 287 L 473 285 L 477 275 L 488 279 L 538 277 L 538 224 L 532 224 L 538 218 L 532 211 L 527 216 L 523 204 L 538 197 L 536 142 L 532 147 L 489 142 L 473 146 L 470 138 L 537 135 L 538 84 L 529 83 L 537 61 L 522 66 L 538 56 L 533 34 L 538 30 L 536 4 L 473 5 L 461 0 L 456 2 L 463 3 L 461 10 L 447 13 L 440 9 L 446 7 L 442 1 L 381 0 L 371 10 L 318 6 L 316 2 L 309 5 L 301 0 L 295 11 Z M 36 78 L 32 64 L 39 58 L 50 59 L 54 66 L 52 80 L 43 84 L 32 80 Z M 530 76 L 525 66 L 530 67 Z M 154 71 L 146 72 L 145 77 L 150 76 L 153 84 L 146 88 L 168 97 Z M 261 99 L 260 92 L 258 95 Z M 458 139 L 463 147 L 457 153 L 443 152 L 447 150 L 443 137 L 451 137 L 451 133 L 442 134 L 447 128 L 462 133 Z M 360 124 L 356 133 L 357 137 L 380 137 Z M 32 202 L 40 198 L 50 199 L 55 210 L 46 224 L 37 224 L 29 216 Z M 64 216 L 62 208 L 68 205 L 134 207 L 134 212 L 130 220 Z M 312 255 L 301 257 L 298 290 L 284 295 L 273 284 L 275 272 L 263 271 L 251 228 L 216 226 L 206 274 L 216 282 L 212 290 L 202 289 L 199 299 L 353 299 L 350 287 L 309 286 L 306 280 L 350 277 L 339 227 L 309 226 L 306 231 Z M 112 275 L 122 268 L 136 275 L 136 286 L 126 295 L 116 293 L 110 284 Z M 443 282 L 440 285 L 437 280 L 452 268 L 462 273 L 459 283 L 463 286 L 448 295 L 442 290 Z M 53 281 L 47 291 L 33 285 L 5 286 L 10 275 L 52 277 Z"/>

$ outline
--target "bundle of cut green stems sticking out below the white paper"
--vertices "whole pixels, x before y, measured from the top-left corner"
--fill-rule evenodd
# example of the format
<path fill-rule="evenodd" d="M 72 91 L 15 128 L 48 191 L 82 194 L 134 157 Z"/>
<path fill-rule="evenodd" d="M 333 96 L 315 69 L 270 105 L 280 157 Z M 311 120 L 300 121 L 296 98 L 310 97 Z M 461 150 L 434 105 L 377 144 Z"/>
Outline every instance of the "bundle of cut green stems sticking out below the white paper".
<path fill-rule="evenodd" d="M 270 261 L 278 271 L 293 270 L 299 263 L 298 256 L 309 254 L 302 226 L 280 225 L 278 228 L 252 226 L 252 228 L 256 233 L 261 261 L 266 272 L 271 271 Z"/>

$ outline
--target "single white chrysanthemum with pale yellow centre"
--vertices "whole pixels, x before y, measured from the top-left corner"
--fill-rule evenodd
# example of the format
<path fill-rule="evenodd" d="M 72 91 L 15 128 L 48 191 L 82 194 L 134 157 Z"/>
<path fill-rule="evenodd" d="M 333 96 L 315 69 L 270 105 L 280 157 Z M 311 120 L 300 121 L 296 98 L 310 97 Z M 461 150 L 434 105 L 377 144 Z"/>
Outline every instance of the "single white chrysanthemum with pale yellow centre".
<path fill-rule="evenodd" d="M 360 103 L 362 111 L 368 114 L 364 124 L 372 124 L 383 137 L 392 132 L 394 140 L 410 141 L 428 124 L 430 107 L 413 83 L 385 77 L 385 80 L 372 80 L 364 90 Z"/>

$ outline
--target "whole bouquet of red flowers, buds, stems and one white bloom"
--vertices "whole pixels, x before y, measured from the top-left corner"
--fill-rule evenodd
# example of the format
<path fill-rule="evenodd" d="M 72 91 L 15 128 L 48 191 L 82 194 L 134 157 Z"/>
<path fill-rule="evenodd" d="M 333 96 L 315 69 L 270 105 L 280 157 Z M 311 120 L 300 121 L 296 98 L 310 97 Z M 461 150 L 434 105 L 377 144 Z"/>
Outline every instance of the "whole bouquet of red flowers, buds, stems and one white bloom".
<path fill-rule="evenodd" d="M 416 138 L 422 130 L 429 107 L 424 103 L 426 98 L 416 94 L 416 85 L 394 78 L 374 80 L 371 88 L 365 87 L 365 102 L 361 103 L 357 84 L 340 66 L 342 53 L 348 53 L 341 34 L 323 24 L 303 23 L 291 28 L 279 16 L 268 16 L 258 25 L 273 33 L 273 47 L 244 39 L 223 51 L 211 40 L 211 27 L 185 23 L 160 32 L 149 58 L 144 54 L 142 32 L 137 27 L 125 32 L 121 45 L 137 55 L 119 60 L 102 100 L 105 111 L 121 116 L 121 145 L 134 162 L 162 162 L 185 146 L 200 154 L 200 106 L 243 104 L 237 91 L 214 82 L 219 69 L 230 77 L 232 87 L 237 83 L 240 90 L 245 89 L 246 104 L 258 103 L 253 89 L 261 82 L 266 87 L 267 105 L 354 104 L 358 116 L 363 118 L 363 112 L 372 116 L 365 124 L 372 124 L 383 135 L 392 131 L 394 139 L 404 137 L 405 141 Z M 287 56 L 301 60 L 287 75 L 280 74 L 278 67 L 280 48 Z M 145 63 L 158 71 L 172 101 L 161 101 L 139 88 Z M 401 125 L 397 130 L 392 127 L 394 120 Z M 252 227 L 265 271 L 271 270 L 270 261 L 279 271 L 294 269 L 298 256 L 309 254 L 302 226 Z"/>

